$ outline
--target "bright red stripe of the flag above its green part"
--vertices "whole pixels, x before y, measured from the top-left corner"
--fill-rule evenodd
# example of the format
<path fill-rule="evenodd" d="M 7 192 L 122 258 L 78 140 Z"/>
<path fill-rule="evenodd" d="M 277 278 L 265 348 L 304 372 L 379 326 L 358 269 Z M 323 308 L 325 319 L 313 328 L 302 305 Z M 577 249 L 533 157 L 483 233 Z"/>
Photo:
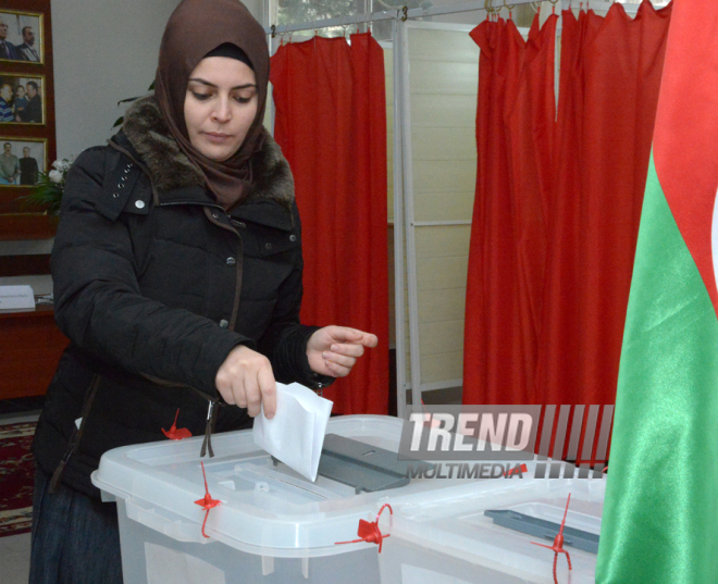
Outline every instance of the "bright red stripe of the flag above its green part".
<path fill-rule="evenodd" d="M 715 1 L 693 0 L 691 16 L 671 22 L 656 113 L 654 160 L 666 200 L 718 314 L 710 244 L 718 188 Z M 671 44 L 681 50 L 671 51 Z"/>

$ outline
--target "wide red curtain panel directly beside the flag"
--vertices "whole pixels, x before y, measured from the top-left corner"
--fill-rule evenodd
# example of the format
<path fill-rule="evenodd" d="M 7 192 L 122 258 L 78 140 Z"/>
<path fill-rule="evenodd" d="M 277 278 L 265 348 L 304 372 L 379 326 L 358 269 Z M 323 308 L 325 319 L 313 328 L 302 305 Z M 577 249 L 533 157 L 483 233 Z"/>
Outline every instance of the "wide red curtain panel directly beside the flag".
<path fill-rule="evenodd" d="M 536 398 L 614 403 L 670 7 L 565 12 Z M 565 33 L 566 34 L 566 33 Z"/>

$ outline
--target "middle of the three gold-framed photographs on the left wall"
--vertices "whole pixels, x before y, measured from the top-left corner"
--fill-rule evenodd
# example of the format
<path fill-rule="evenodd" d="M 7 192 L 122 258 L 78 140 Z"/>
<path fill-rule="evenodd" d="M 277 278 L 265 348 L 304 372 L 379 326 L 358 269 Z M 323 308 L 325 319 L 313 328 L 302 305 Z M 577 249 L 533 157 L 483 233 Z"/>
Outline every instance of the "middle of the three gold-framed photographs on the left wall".
<path fill-rule="evenodd" d="M 45 124 L 45 76 L 0 73 L 0 124 Z"/>

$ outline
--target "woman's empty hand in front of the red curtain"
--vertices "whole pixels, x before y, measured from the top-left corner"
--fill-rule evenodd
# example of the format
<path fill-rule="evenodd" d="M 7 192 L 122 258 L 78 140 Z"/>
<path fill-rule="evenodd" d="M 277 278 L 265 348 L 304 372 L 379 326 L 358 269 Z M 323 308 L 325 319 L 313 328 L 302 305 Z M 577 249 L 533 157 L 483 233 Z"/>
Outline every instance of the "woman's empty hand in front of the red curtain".
<path fill-rule="evenodd" d="M 376 347 L 376 335 L 346 326 L 324 326 L 307 343 L 309 366 L 314 373 L 344 377 L 364 353 L 364 347 Z"/>

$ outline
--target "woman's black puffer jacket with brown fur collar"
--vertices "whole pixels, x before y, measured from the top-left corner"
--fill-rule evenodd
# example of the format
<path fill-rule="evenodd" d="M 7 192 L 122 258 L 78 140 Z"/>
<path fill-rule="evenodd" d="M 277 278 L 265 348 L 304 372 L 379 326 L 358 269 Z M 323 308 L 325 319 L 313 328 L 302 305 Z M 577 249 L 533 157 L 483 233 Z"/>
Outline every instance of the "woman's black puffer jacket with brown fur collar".
<path fill-rule="evenodd" d="M 46 472 L 64 457 L 62 482 L 99 496 L 89 474 L 107 450 L 166 439 L 177 409 L 177 425 L 201 435 L 216 371 L 239 344 L 265 355 L 277 381 L 329 381 L 305 352 L 315 328 L 299 324 L 299 218 L 271 138 L 251 169 L 246 199 L 225 213 L 151 97 L 77 159 L 52 252 L 55 320 L 72 343 L 33 445 Z M 218 432 L 249 425 L 246 410 L 219 408 Z"/>

